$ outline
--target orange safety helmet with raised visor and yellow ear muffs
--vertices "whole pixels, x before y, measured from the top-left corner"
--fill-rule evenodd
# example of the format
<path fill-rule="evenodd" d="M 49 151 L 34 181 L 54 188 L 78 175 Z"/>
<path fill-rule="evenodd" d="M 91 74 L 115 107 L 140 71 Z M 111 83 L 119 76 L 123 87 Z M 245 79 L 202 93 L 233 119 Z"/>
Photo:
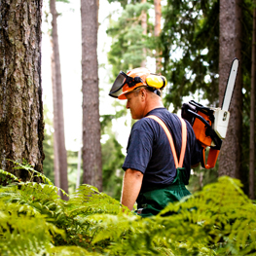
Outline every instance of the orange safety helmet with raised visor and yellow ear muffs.
<path fill-rule="evenodd" d="M 150 73 L 150 71 L 145 67 L 132 69 L 128 71 L 128 74 L 120 71 L 109 95 L 119 99 L 126 99 L 126 93 L 134 91 L 136 88 L 142 86 L 148 87 L 160 95 L 158 89 L 165 88 L 166 79 L 164 76 Z"/>

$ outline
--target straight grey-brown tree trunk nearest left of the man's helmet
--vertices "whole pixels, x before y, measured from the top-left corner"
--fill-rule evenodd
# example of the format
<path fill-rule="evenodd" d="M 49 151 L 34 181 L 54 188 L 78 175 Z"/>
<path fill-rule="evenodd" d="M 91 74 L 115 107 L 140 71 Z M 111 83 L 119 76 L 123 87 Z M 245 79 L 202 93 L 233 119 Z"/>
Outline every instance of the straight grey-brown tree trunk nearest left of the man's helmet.
<path fill-rule="evenodd" d="M 97 29 L 98 0 L 81 0 L 83 80 L 83 182 L 102 191 Z"/>

